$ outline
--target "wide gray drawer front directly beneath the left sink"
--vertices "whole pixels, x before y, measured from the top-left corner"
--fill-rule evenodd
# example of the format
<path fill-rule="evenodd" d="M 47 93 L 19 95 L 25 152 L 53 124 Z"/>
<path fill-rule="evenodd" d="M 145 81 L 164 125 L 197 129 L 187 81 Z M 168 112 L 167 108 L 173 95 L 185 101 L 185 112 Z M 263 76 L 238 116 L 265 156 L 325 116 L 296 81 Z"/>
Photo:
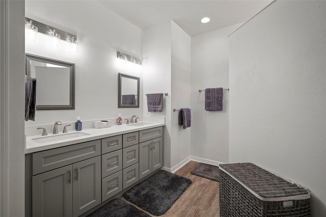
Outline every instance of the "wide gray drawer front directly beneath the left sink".
<path fill-rule="evenodd" d="M 33 153 L 33 175 L 44 173 L 101 154 L 101 141 L 65 146 Z"/>

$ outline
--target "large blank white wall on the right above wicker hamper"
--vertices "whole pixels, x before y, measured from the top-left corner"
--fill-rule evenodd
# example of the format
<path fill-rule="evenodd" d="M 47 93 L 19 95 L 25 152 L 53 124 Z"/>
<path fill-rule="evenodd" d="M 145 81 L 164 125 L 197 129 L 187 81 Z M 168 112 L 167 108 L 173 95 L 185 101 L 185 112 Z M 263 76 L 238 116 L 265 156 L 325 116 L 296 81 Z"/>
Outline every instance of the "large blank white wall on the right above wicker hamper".
<path fill-rule="evenodd" d="M 230 162 L 311 191 L 326 215 L 326 2 L 276 1 L 230 36 Z"/>

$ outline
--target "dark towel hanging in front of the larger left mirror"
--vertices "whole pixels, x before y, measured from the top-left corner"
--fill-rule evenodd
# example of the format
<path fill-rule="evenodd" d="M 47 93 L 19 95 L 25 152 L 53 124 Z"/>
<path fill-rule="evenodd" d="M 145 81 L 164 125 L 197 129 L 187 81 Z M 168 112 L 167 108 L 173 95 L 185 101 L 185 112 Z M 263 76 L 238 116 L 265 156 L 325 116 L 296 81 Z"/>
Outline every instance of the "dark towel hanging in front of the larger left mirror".
<path fill-rule="evenodd" d="M 35 121 L 36 80 L 25 81 L 25 121 Z"/>

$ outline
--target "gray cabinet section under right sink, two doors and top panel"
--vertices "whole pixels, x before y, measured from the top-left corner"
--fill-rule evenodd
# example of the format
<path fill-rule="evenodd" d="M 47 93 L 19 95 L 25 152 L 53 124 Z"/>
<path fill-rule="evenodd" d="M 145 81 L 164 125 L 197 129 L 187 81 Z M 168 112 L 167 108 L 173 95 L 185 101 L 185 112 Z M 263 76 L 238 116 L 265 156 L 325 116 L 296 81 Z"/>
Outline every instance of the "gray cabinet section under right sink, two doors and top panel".
<path fill-rule="evenodd" d="M 162 127 L 140 131 L 139 178 L 142 179 L 163 166 Z"/>

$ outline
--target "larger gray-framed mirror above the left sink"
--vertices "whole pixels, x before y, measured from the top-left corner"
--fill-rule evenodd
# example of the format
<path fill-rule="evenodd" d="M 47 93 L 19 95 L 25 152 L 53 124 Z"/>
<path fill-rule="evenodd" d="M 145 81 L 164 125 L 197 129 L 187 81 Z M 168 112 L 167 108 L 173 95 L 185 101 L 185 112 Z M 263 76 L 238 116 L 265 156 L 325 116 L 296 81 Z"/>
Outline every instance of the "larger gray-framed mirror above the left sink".
<path fill-rule="evenodd" d="M 75 109 L 75 64 L 25 54 L 25 74 L 36 79 L 36 110 Z"/>

